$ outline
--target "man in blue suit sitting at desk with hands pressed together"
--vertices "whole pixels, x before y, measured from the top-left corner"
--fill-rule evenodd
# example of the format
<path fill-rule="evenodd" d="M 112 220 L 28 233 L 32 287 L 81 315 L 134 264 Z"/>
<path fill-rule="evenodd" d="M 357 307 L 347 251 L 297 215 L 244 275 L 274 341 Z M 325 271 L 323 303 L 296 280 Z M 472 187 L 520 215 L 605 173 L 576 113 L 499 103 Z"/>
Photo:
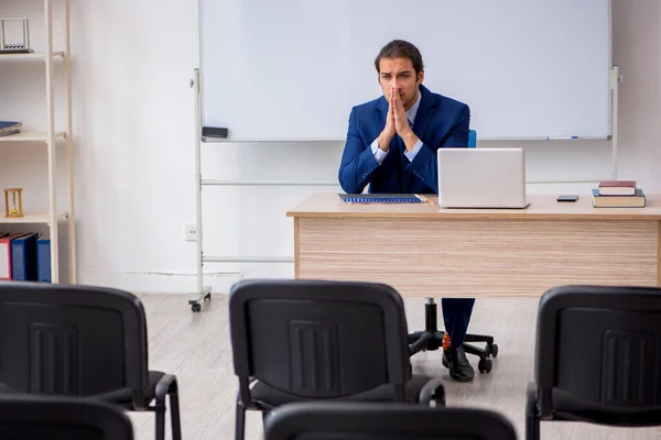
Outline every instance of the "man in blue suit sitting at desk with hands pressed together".
<path fill-rule="evenodd" d="M 383 96 L 351 109 L 339 184 L 348 194 L 362 193 L 367 185 L 369 193 L 437 194 L 436 151 L 468 146 L 470 110 L 422 85 L 422 55 L 411 43 L 388 43 L 375 66 Z M 451 339 L 443 363 L 455 381 L 468 382 L 475 375 L 462 346 L 474 304 L 442 301 Z"/>

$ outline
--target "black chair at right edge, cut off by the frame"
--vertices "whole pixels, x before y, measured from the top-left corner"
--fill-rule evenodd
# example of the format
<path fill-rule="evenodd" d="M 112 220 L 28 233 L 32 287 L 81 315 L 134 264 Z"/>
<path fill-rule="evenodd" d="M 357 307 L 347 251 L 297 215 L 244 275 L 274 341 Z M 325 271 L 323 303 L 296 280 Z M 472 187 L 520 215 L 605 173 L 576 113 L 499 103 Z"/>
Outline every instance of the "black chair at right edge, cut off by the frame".
<path fill-rule="evenodd" d="M 525 431 L 540 420 L 661 425 L 661 289 L 563 286 L 538 315 Z"/>

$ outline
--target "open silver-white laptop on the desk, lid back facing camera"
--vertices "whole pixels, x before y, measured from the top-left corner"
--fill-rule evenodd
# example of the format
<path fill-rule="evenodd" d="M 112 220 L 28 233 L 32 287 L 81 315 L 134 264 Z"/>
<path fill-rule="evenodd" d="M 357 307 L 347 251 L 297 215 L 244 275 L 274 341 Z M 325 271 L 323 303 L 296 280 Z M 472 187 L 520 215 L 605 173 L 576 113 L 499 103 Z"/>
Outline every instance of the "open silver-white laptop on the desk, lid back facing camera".
<path fill-rule="evenodd" d="M 525 208 L 523 148 L 438 148 L 438 206 Z"/>

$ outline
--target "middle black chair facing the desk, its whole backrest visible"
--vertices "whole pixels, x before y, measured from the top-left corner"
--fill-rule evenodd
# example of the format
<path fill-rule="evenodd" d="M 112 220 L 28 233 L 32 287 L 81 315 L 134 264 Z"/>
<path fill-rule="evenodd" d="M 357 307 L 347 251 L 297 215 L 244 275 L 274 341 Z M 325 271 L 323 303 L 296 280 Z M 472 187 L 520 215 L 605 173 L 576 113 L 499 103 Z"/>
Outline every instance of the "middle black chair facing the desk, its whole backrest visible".
<path fill-rule="evenodd" d="M 246 279 L 231 288 L 229 320 L 239 440 L 247 409 L 263 416 L 329 399 L 444 405 L 440 378 L 411 375 L 404 307 L 387 285 Z"/>

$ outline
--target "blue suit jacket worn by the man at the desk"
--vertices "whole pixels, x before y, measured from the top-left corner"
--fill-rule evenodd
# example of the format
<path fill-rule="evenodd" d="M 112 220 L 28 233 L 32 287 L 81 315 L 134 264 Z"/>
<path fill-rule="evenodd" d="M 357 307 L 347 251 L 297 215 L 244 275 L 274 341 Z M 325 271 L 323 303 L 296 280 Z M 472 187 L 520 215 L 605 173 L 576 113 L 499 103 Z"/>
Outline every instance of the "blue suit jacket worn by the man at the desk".
<path fill-rule="evenodd" d="M 368 184 L 369 193 L 438 193 L 436 151 L 468 146 L 470 109 L 463 102 L 432 94 L 422 85 L 420 91 L 422 98 L 413 132 L 423 145 L 413 162 L 404 156 L 404 143 L 397 134 L 383 163 L 378 165 L 375 160 L 370 145 L 386 127 L 386 98 L 381 96 L 351 109 L 338 175 L 345 193 L 362 193 Z"/>

